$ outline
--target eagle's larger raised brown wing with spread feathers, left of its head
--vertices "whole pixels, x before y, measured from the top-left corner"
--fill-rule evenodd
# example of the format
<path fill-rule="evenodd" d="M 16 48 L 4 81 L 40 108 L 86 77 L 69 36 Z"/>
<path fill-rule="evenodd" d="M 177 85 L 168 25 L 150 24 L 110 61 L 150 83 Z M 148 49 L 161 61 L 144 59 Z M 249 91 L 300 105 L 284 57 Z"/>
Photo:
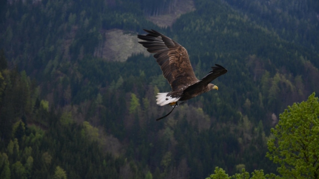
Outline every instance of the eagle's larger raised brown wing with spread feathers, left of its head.
<path fill-rule="evenodd" d="M 140 41 L 150 53 L 156 53 L 154 57 L 160 65 L 164 77 L 171 86 L 172 91 L 192 85 L 199 80 L 191 67 L 187 50 L 156 30 L 146 30 L 147 35 L 138 35 Z"/>

